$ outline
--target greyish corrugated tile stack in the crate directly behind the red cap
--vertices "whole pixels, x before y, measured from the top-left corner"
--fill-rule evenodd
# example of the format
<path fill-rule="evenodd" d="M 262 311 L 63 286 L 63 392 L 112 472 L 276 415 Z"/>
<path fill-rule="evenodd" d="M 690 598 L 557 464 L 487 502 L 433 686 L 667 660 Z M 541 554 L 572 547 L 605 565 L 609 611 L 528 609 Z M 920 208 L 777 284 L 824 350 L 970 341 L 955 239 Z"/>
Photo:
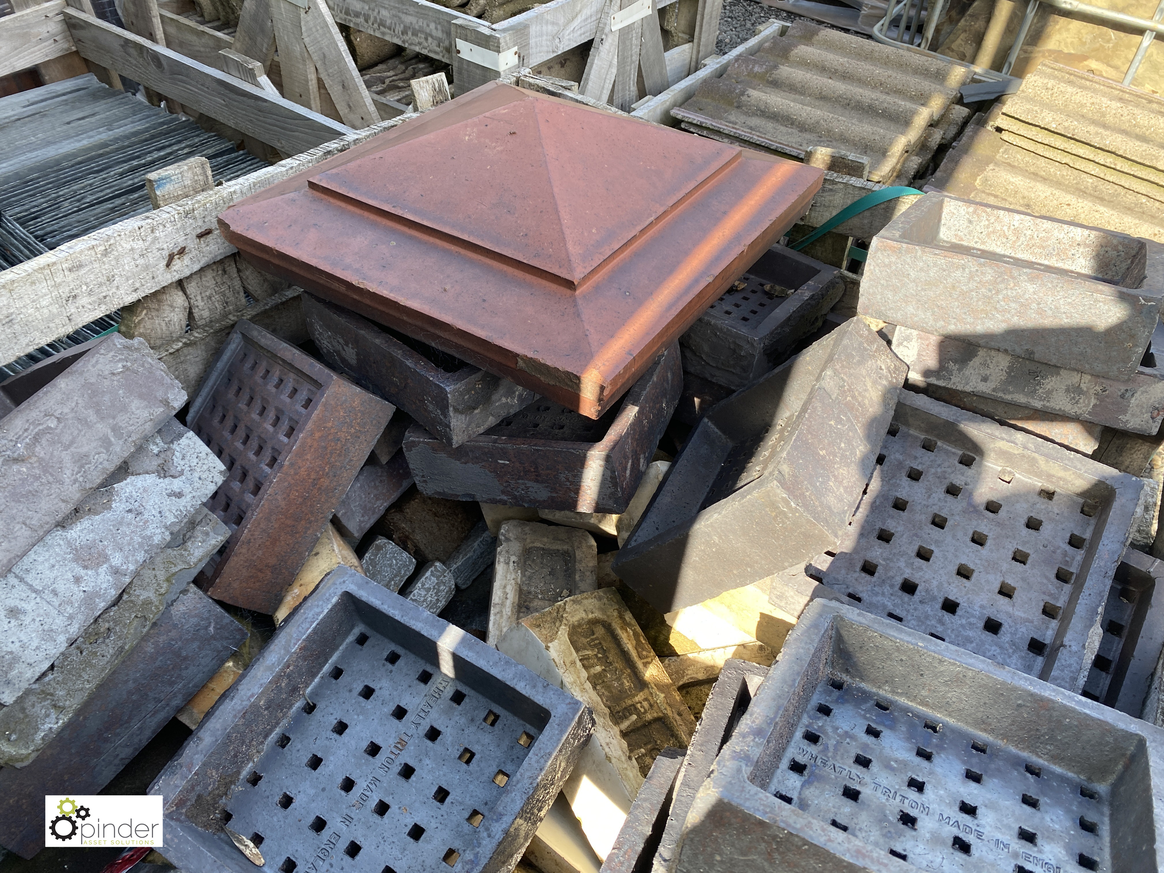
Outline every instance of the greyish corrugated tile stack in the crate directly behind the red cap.
<path fill-rule="evenodd" d="M 908 184 L 970 115 L 952 106 L 970 76 L 797 21 L 670 114 L 686 129 L 795 158 L 814 147 L 864 156 L 870 180 Z"/>

